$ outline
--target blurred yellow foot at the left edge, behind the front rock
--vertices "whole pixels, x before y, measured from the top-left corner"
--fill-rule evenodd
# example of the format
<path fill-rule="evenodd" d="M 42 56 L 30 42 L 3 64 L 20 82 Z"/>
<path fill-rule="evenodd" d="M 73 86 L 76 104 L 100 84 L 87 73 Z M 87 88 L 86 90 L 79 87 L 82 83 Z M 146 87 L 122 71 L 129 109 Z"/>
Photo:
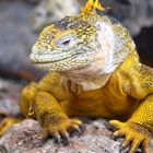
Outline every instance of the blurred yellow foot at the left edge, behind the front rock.
<path fill-rule="evenodd" d="M 16 119 L 16 118 L 4 118 L 1 122 L 0 122 L 0 137 L 13 125 L 16 122 L 20 122 L 21 119 Z"/>

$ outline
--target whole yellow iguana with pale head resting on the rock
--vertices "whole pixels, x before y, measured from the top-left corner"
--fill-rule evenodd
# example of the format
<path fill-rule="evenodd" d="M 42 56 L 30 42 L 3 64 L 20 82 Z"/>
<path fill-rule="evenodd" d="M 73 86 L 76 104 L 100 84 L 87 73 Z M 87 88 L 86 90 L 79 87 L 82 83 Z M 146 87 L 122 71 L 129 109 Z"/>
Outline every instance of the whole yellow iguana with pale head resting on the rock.
<path fill-rule="evenodd" d="M 46 27 L 31 60 L 49 73 L 23 90 L 21 109 L 36 117 L 45 133 L 67 138 L 82 123 L 70 117 L 117 119 L 110 123 L 115 137 L 125 137 L 123 148 L 130 143 L 133 153 L 142 144 L 151 152 L 153 70 L 139 62 L 128 31 L 98 1 L 90 0 L 81 14 Z"/>

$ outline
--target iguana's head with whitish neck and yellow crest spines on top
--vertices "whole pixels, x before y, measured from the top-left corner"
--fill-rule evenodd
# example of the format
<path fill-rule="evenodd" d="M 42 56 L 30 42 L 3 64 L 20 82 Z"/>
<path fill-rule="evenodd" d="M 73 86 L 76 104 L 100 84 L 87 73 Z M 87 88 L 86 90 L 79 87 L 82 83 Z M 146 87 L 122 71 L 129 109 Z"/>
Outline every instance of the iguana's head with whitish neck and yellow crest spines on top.
<path fill-rule="evenodd" d="M 81 14 L 64 17 L 42 32 L 31 54 L 35 67 L 97 76 L 113 72 L 123 61 L 132 46 L 127 30 L 101 14 L 103 8 L 97 0 L 93 8 L 92 1 Z"/>

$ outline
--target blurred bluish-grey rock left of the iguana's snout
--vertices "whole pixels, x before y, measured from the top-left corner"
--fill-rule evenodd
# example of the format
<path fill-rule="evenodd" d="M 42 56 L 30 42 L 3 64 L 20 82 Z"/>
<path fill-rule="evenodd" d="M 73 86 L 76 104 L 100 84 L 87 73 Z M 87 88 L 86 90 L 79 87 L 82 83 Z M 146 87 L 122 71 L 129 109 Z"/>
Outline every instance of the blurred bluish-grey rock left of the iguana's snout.
<path fill-rule="evenodd" d="M 28 55 L 36 40 L 28 23 L 32 7 L 20 1 L 0 2 L 0 74 L 34 80 L 40 75 Z"/>

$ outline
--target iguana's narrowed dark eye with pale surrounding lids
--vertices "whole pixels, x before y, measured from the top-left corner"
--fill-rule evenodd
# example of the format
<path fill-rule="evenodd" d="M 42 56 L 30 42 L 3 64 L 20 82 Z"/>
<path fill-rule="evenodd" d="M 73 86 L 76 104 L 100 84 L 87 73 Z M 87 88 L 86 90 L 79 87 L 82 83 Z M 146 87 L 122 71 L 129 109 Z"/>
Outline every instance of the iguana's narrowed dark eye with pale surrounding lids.
<path fill-rule="evenodd" d="M 59 44 L 57 45 L 58 47 L 72 47 L 75 44 L 74 37 L 64 37 L 62 38 Z"/>

